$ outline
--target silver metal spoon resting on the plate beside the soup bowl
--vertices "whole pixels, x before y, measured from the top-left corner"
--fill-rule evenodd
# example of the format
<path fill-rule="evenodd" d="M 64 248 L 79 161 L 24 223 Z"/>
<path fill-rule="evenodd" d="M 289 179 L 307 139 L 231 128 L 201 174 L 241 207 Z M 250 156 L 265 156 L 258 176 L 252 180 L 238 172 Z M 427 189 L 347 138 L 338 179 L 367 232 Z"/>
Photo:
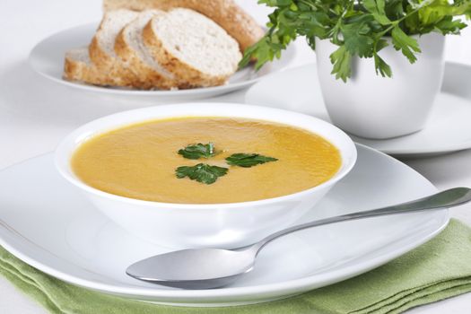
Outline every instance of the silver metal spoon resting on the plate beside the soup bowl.
<path fill-rule="evenodd" d="M 403 214 L 463 205 L 471 201 L 470 188 L 449 190 L 411 202 L 379 209 L 343 214 L 303 223 L 269 235 L 257 243 L 239 250 L 183 249 L 143 259 L 126 269 L 126 274 L 136 279 L 183 289 L 211 289 L 236 281 L 240 275 L 251 271 L 258 252 L 267 243 L 294 231 L 320 225 L 345 222 L 388 214 Z"/>

